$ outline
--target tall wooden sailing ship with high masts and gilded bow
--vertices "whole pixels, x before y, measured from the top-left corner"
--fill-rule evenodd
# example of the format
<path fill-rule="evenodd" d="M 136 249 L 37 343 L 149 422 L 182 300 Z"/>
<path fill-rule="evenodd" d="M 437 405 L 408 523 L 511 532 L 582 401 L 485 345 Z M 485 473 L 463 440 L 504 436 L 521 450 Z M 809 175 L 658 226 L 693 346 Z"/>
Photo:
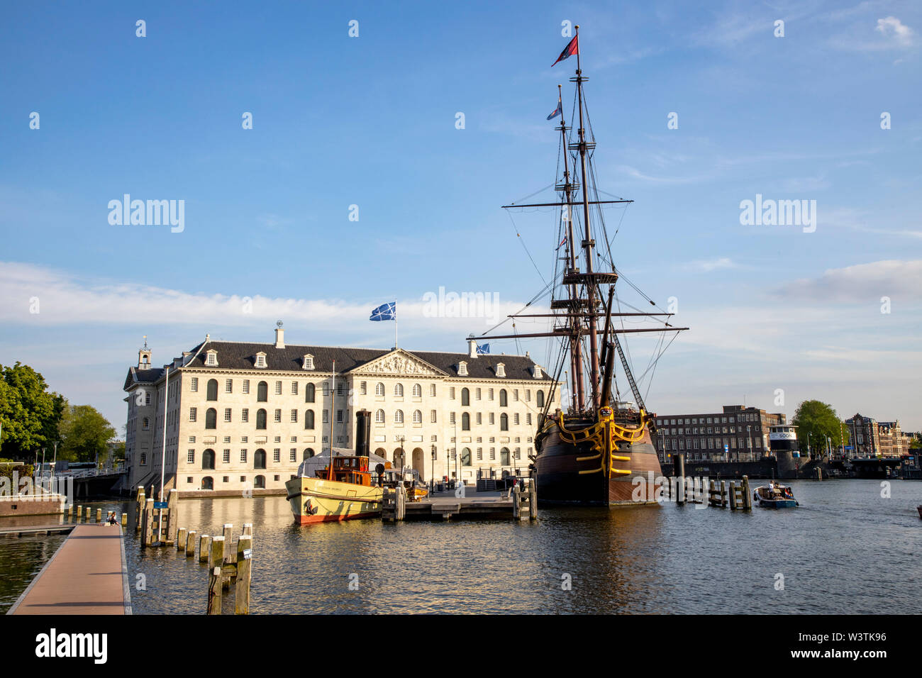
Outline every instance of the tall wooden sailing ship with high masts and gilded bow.
<path fill-rule="evenodd" d="M 555 247 L 553 279 L 528 304 L 550 295 L 550 314 L 514 314 L 507 319 L 513 327 L 515 318 L 533 319 L 530 322 L 543 319 L 548 329 L 509 335 L 491 334 L 491 330 L 485 338 L 550 338 L 551 374 L 557 383 L 568 387 L 566 401 L 561 398 L 565 410 L 550 411 L 553 398 L 549 398 L 538 415 L 532 473 L 541 504 L 656 505 L 661 470 L 654 446 L 655 415 L 646 409 L 632 375 L 630 351 L 625 355 L 625 335 L 662 333 L 644 373 L 652 377 L 662 352 L 688 327 L 673 327 L 668 322 L 673 314 L 661 309 L 615 267 L 615 233 L 606 228 L 604 209 L 626 208 L 632 200 L 599 196 L 605 192 L 597 188 L 596 139 L 584 92 L 588 78 L 583 76 L 579 27 L 575 28 L 573 40 L 555 65 L 576 57 L 576 72 L 570 78 L 575 84 L 571 119 L 577 119 L 579 126 L 574 132 L 566 124 L 560 85 L 557 110 L 548 116 L 549 120 L 561 116 L 560 126 L 555 127 L 560 133 L 555 197 L 548 202 L 502 206 L 507 210 L 548 209 L 557 220 L 557 235 L 551 245 Z M 640 294 L 643 308 L 619 297 L 619 279 Z M 636 327 L 638 322 L 651 327 Z M 616 356 L 623 373 L 621 383 L 615 371 Z M 622 395 L 621 387 L 630 388 L 630 397 L 626 392 Z"/>

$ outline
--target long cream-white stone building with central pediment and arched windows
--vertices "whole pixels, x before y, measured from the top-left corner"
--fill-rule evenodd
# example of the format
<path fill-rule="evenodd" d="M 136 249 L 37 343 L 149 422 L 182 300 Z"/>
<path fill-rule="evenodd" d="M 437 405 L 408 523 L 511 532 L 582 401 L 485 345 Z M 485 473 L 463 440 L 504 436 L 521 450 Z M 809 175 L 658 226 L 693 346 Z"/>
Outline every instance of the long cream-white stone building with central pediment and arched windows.
<path fill-rule="evenodd" d="M 185 496 L 283 494 L 303 458 L 354 448 L 358 410 L 372 451 L 427 482 L 526 474 L 539 412 L 560 407 L 527 354 L 293 346 L 281 328 L 274 343 L 206 339 L 159 368 L 145 345 L 124 390 L 129 486 L 160 487 L 165 411 L 162 474 Z"/>

